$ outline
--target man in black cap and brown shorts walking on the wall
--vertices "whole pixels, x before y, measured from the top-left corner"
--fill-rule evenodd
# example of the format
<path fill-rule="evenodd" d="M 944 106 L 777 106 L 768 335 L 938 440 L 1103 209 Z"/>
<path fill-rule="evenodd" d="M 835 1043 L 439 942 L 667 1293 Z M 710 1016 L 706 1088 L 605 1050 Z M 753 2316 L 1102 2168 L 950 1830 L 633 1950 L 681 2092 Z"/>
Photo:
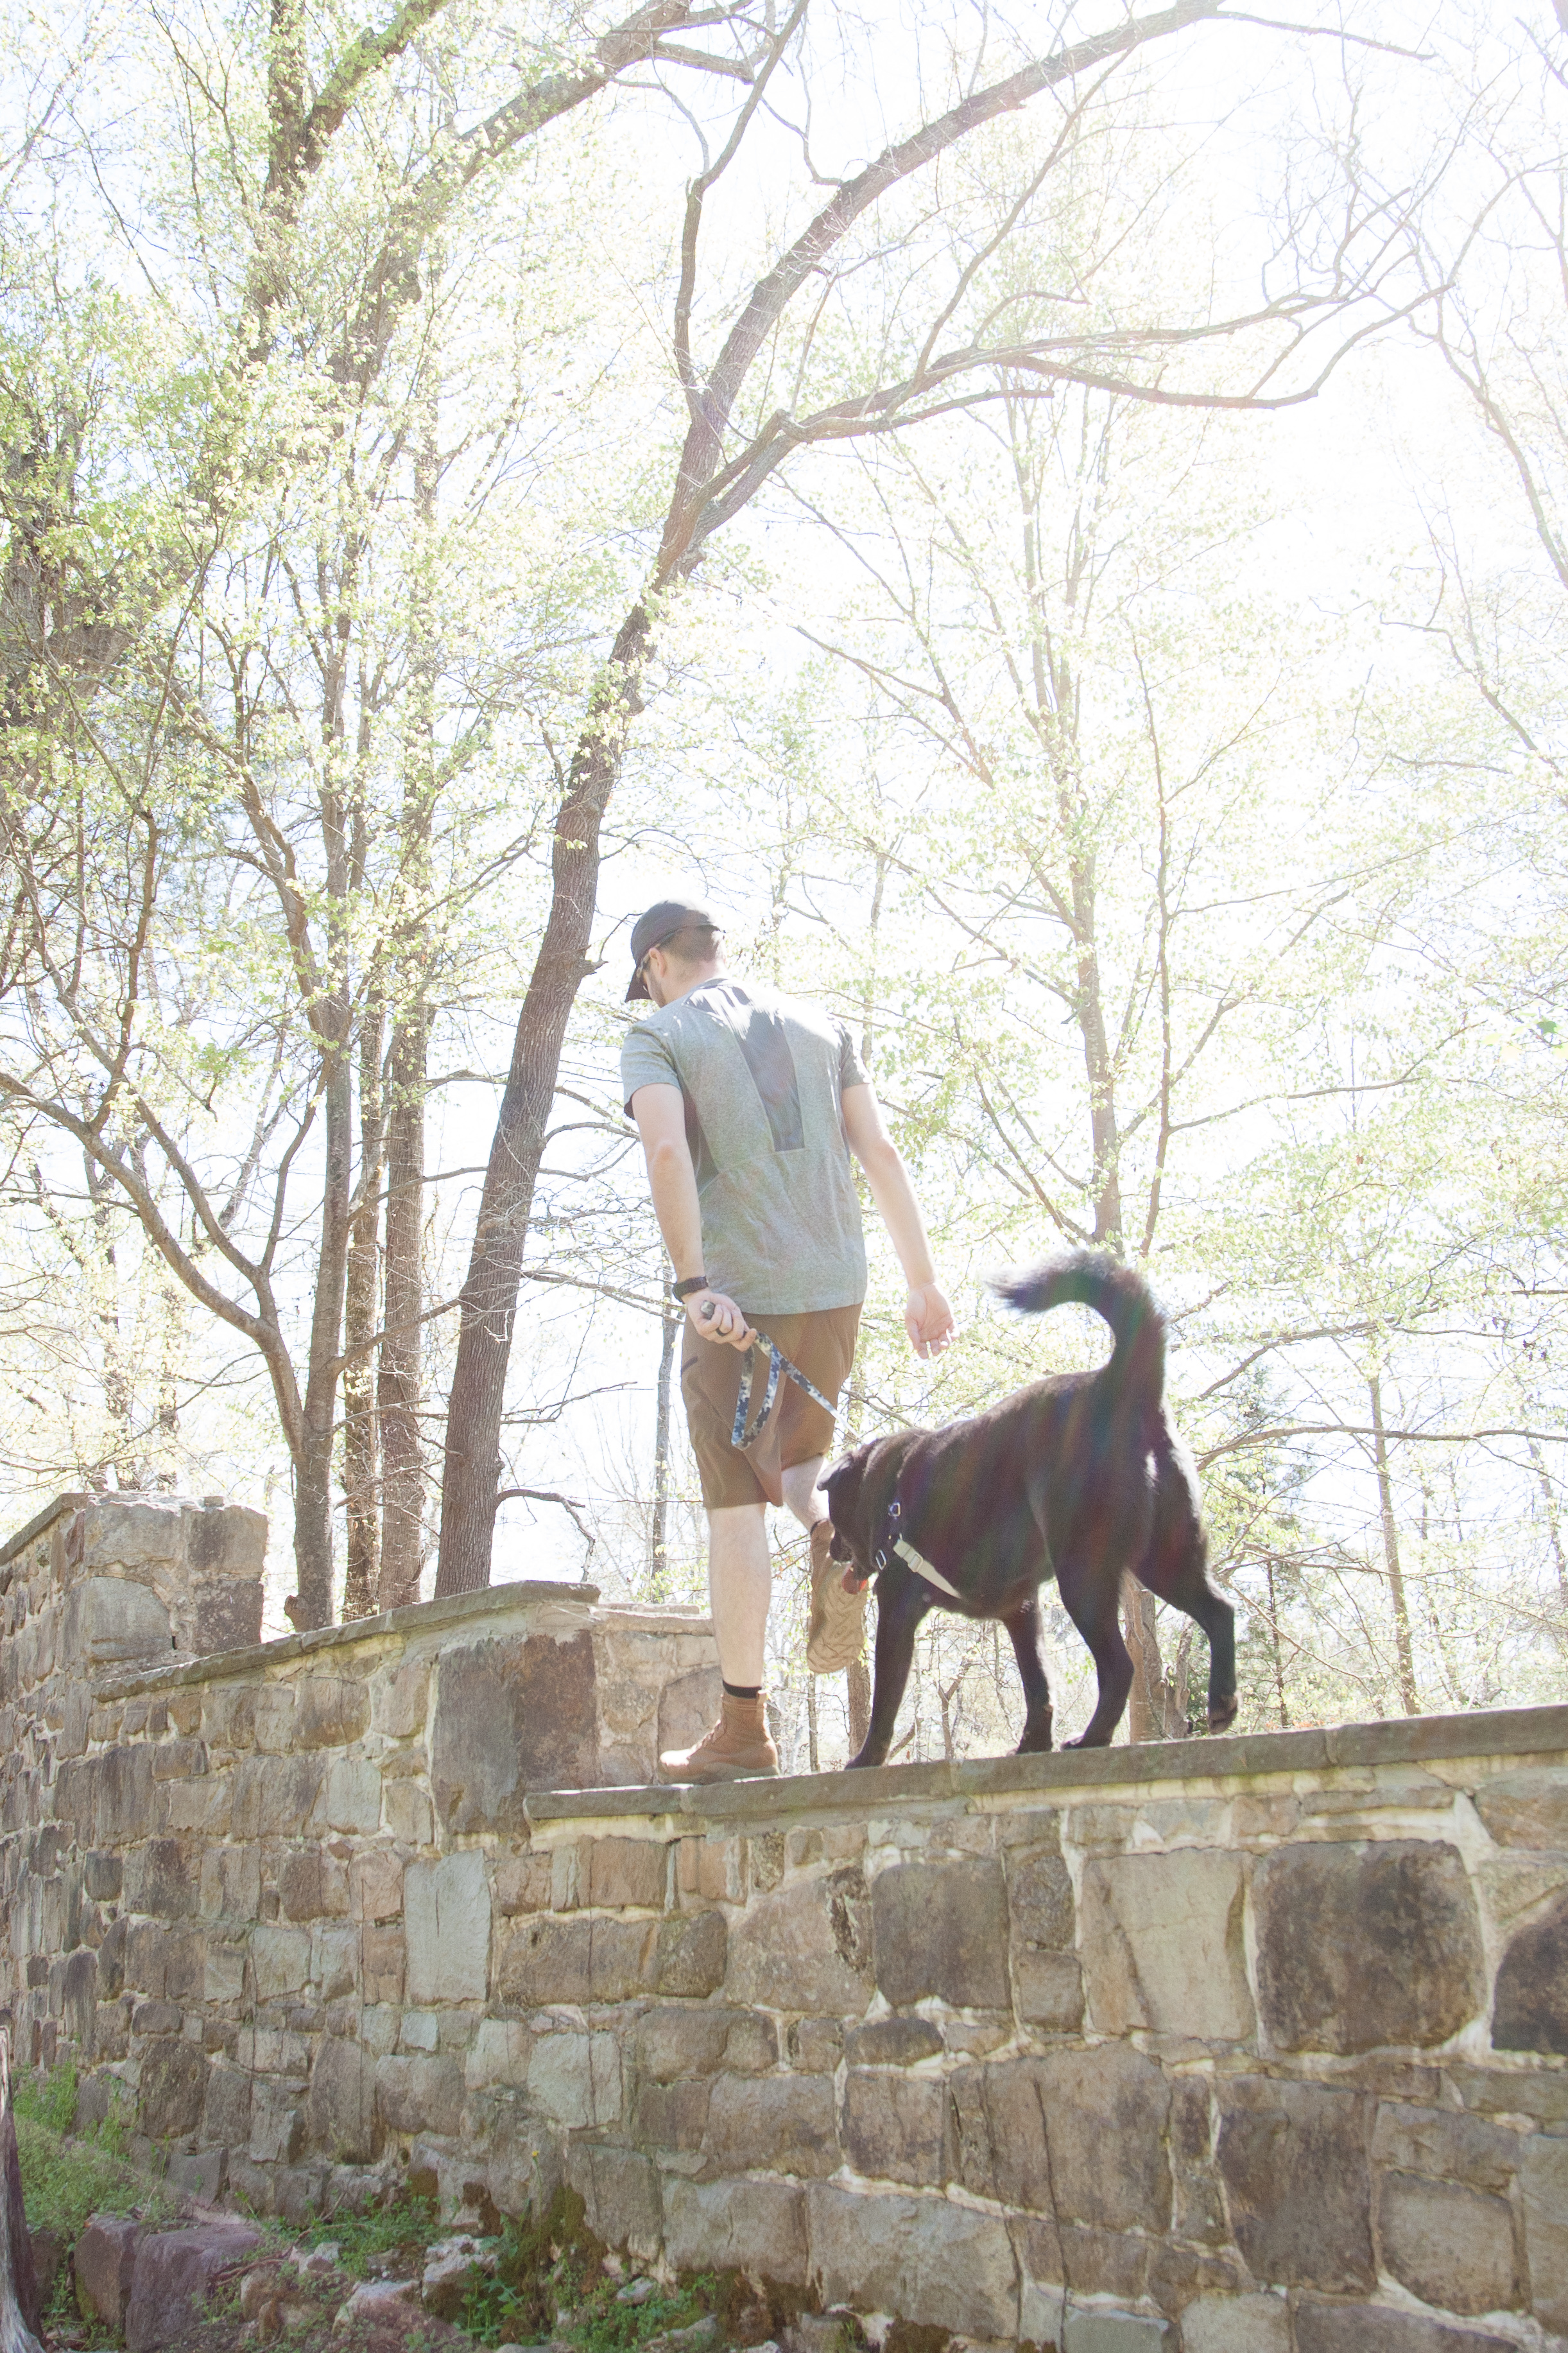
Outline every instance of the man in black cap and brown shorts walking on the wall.
<path fill-rule="evenodd" d="M 632 929 L 628 1002 L 656 1009 L 621 1047 L 621 1096 L 637 1120 L 649 1188 L 684 1301 L 682 1398 L 708 1511 L 708 1593 L 719 1645 L 719 1722 L 661 1765 L 677 1781 L 778 1772 L 766 1727 L 764 1640 L 771 1600 L 766 1504 L 811 1529 L 811 1638 L 818 1673 L 858 1654 L 865 1591 L 846 1593 L 827 1558 L 818 1487 L 865 1299 L 865 1240 L 851 1151 L 910 1285 L 917 1355 L 952 1334 L 931 1247 L 898 1146 L 842 1021 L 726 976 L 705 908 L 661 899 Z M 771 1344 L 771 1346 L 769 1346 Z M 750 1417 L 780 1369 L 764 1428 L 733 1445 L 750 1369 Z M 755 1351 L 755 1353 L 752 1353 Z"/>

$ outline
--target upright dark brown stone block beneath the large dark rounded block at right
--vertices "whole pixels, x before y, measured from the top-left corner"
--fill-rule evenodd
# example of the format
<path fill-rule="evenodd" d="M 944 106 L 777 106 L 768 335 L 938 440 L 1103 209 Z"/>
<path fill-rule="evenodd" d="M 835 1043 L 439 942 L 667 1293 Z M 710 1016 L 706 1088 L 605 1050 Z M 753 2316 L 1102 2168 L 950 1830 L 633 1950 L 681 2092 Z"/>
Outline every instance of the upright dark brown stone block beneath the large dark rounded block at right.
<path fill-rule="evenodd" d="M 1274 2287 L 1368 2289 L 1368 2115 L 1359 2092 L 1234 2078 L 1220 2099 L 1218 2165 L 1237 2245 Z"/>

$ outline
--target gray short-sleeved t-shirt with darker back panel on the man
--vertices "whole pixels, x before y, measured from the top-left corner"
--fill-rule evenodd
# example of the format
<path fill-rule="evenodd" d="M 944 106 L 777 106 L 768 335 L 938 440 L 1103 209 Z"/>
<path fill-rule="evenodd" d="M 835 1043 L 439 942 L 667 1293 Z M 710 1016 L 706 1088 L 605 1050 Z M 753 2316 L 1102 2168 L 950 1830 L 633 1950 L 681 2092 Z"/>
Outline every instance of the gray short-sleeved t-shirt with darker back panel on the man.
<path fill-rule="evenodd" d="M 842 1021 L 750 981 L 703 981 L 625 1033 L 625 1108 L 639 1087 L 679 1087 L 708 1280 L 750 1315 L 865 1299 L 842 1108 L 865 1082 Z"/>

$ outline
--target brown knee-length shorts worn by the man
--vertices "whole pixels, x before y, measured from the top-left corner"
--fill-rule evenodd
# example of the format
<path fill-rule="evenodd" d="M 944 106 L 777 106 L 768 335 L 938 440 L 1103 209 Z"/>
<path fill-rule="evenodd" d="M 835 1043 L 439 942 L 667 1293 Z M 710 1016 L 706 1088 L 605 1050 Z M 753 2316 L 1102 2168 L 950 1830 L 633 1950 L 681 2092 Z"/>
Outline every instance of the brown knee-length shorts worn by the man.
<path fill-rule="evenodd" d="M 755 1332 L 766 1332 L 790 1362 L 799 1365 L 806 1379 L 837 1402 L 856 1360 L 858 1304 L 853 1308 L 813 1308 L 809 1315 L 748 1315 L 748 1322 Z M 682 1398 L 708 1511 L 729 1511 L 733 1504 L 783 1504 L 780 1473 L 792 1471 L 795 1464 L 809 1464 L 832 1445 L 832 1414 L 823 1412 L 788 1374 L 780 1374 L 762 1438 L 745 1454 L 733 1447 L 729 1440 L 736 1426 L 743 1372 L 745 1348 L 726 1348 L 724 1341 L 703 1339 L 686 1318 Z M 766 1374 L 769 1353 L 757 1348 L 752 1358 L 752 1414 L 762 1405 Z"/>

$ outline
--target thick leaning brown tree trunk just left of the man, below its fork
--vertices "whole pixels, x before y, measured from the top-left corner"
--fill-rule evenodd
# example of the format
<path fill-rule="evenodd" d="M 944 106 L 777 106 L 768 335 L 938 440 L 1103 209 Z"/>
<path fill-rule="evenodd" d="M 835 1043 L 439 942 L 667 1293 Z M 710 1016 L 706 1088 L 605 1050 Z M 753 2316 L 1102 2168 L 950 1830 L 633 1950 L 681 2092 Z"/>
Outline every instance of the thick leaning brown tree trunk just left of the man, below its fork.
<path fill-rule="evenodd" d="M 550 920 L 517 1016 L 512 1068 L 484 1169 L 480 1224 L 461 1297 L 458 1355 L 447 1400 L 442 1548 L 435 1591 L 477 1593 L 489 1584 L 501 1468 L 501 1409 L 512 1351 L 522 1254 L 534 1184 L 545 1148 L 567 1021 L 588 974 L 588 941 L 599 885 L 599 826 L 621 774 L 625 732 L 642 711 L 651 652 L 644 605 L 635 605 L 611 647 L 567 791 L 555 814 Z"/>

